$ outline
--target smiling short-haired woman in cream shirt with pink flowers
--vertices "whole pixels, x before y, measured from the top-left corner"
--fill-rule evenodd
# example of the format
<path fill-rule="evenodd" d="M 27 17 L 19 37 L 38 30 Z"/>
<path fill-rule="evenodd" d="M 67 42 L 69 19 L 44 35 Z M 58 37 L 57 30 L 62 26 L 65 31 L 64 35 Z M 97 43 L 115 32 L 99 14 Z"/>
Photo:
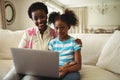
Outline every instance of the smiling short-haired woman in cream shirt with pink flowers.
<path fill-rule="evenodd" d="M 33 3 L 28 9 L 28 16 L 35 27 L 27 29 L 19 44 L 19 48 L 30 48 L 39 50 L 48 50 L 48 43 L 55 38 L 55 32 L 47 25 L 47 6 L 42 2 Z M 78 40 L 80 43 L 80 40 Z M 11 69 L 3 80 L 39 80 L 38 77 L 30 75 L 20 75 Z"/>

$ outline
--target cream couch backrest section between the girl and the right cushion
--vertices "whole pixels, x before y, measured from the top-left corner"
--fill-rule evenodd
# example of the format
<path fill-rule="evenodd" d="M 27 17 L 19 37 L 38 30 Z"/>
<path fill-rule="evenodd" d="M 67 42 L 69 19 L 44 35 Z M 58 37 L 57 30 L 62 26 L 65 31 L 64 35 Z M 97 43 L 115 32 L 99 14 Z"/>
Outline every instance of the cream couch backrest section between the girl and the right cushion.
<path fill-rule="evenodd" d="M 82 63 L 95 65 L 104 44 L 112 34 L 70 34 L 82 40 Z"/>

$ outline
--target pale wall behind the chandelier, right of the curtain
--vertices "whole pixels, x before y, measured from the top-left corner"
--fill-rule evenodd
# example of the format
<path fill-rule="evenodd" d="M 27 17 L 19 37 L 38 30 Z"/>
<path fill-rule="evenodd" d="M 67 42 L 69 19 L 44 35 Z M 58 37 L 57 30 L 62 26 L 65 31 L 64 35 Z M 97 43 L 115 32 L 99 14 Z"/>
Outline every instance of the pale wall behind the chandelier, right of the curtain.
<path fill-rule="evenodd" d="M 120 4 L 109 6 L 108 12 L 100 14 L 96 8 L 88 8 L 88 27 L 112 29 L 120 25 Z"/>

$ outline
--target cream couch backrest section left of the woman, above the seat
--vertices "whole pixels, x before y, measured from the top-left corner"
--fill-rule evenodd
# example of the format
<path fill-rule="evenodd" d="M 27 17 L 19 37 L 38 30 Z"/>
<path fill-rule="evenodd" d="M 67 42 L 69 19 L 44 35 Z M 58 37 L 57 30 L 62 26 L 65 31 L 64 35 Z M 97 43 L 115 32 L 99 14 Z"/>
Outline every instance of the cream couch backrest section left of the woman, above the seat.
<path fill-rule="evenodd" d="M 0 30 L 0 59 L 12 59 L 10 48 L 18 46 L 23 33 L 23 30 Z"/>

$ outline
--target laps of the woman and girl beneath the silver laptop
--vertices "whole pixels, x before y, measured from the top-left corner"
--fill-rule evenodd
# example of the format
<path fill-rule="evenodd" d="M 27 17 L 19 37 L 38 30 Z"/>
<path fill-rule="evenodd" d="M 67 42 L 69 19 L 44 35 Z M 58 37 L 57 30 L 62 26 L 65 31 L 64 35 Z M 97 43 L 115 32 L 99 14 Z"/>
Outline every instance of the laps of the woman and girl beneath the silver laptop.
<path fill-rule="evenodd" d="M 21 79 L 22 78 L 22 79 Z M 15 69 L 11 69 L 9 74 L 4 79 L 12 80 L 80 80 L 79 72 L 67 73 L 63 78 L 49 78 L 49 77 L 38 77 L 31 75 L 20 75 L 17 74 Z"/>

